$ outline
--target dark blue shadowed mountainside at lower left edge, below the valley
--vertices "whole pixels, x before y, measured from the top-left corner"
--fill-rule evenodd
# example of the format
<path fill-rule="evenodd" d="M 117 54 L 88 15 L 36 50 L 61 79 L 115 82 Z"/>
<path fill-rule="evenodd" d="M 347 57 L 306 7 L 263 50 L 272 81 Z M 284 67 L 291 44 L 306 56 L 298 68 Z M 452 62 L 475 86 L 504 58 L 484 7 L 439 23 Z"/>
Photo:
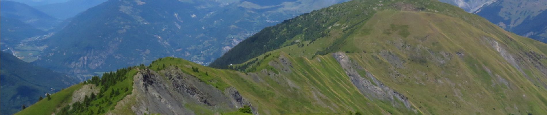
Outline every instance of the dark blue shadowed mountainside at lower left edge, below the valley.
<path fill-rule="evenodd" d="M 45 93 L 54 93 L 78 83 L 75 77 L 26 63 L 13 55 L 0 53 L 0 114 L 13 114 L 22 105 L 30 106 Z"/>

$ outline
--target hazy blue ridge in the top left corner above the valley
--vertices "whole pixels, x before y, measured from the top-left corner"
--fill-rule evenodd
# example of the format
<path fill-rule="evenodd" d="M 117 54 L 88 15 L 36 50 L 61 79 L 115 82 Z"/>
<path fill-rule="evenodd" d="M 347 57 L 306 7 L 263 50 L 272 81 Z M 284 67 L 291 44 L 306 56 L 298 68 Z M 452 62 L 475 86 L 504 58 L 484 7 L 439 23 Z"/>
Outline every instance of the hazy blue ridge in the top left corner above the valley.
<path fill-rule="evenodd" d="M 23 3 L 1 1 L 0 5 L 0 16 L 18 19 L 38 29 L 52 29 L 59 23 L 59 20 L 55 17 L 51 17 Z"/>

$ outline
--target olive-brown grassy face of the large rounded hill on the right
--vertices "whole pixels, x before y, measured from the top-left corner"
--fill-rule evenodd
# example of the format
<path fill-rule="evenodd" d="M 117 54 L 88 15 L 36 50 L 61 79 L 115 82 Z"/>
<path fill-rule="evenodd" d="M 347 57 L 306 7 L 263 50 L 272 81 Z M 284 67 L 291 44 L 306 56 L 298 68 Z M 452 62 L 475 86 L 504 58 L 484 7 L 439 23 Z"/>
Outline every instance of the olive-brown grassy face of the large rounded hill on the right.
<path fill-rule="evenodd" d="M 526 44 L 532 43 L 529 41 L 530 39 L 518 37 L 497 27 L 488 28 L 495 31 L 480 28 L 485 25 L 473 27 L 463 20 L 437 14 L 385 11 L 376 15 L 379 15 L 375 16 L 379 18 L 371 19 L 365 28 L 384 29 L 375 29 L 372 33 L 382 33 L 389 28 L 389 25 L 400 23 L 409 25 L 409 31 L 412 34 L 406 39 L 400 39 L 397 35 L 388 35 L 387 37 L 381 34 L 365 37 L 356 35 L 357 37 L 348 39 L 348 41 L 359 41 L 354 42 L 354 46 L 359 50 L 382 49 L 391 51 L 403 59 L 411 59 L 405 66 L 412 69 L 397 69 L 398 72 L 406 76 L 394 77 L 389 75 L 389 72 L 393 72 L 390 70 L 393 65 L 386 64 L 385 60 L 370 61 L 375 60 L 374 53 L 356 53 L 351 57 L 359 60 L 360 64 L 379 76 L 379 79 L 388 86 L 398 89 L 399 92 L 404 90 L 405 94 L 408 94 L 413 100 L 414 105 L 421 107 L 422 111 L 432 114 L 443 113 L 446 110 L 454 114 L 526 114 L 527 112 L 545 114 L 546 103 L 542 100 L 547 97 L 546 90 L 544 87 L 534 87 L 533 84 L 545 83 L 543 75 L 537 70 L 530 69 L 529 71 L 533 71 L 534 75 L 528 76 L 536 78 L 526 79 L 517 69 L 507 64 L 499 53 L 487 46 L 488 43 L 482 43 L 484 41 L 481 40 L 481 37 L 486 36 L 497 41 L 507 41 L 505 35 L 508 35 L 516 40 L 505 43 L 512 45 L 513 49 L 510 50 L 520 47 L 520 49 L 516 49 L 522 51 L 514 52 L 541 52 L 542 50 L 537 47 Z M 387 15 L 391 15 L 391 17 L 387 19 Z M 426 36 L 429 38 L 423 38 Z M 421 39 L 426 40 L 421 41 Z M 380 40 L 393 44 L 374 44 L 374 41 Z M 427 51 L 401 50 L 397 48 L 399 45 L 397 43 L 410 45 L 410 49 Z M 540 46 L 545 46 L 545 44 Z M 464 52 L 465 56 L 438 64 L 433 60 L 435 56 L 428 56 L 430 52 Z M 427 62 L 412 61 L 415 58 L 412 55 L 415 54 L 421 56 L 418 58 L 426 59 Z M 489 75 L 485 68 L 493 71 L 493 75 Z M 498 82 L 496 75 L 507 80 L 509 86 L 506 87 Z M 537 81 L 535 81 L 536 79 Z M 424 85 L 420 85 L 420 83 L 424 83 Z M 523 95 L 529 96 L 523 97 Z"/>

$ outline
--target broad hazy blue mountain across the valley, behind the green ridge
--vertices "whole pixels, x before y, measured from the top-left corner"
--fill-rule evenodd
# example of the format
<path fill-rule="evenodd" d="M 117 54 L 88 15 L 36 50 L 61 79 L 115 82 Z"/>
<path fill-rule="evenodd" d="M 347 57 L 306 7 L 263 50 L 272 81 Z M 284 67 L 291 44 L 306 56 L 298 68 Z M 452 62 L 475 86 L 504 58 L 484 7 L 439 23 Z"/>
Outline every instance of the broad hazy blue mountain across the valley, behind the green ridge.
<path fill-rule="evenodd" d="M 264 27 L 344 1 L 107 1 L 45 41 L 48 48 L 33 63 L 73 73 L 167 56 L 208 64 Z"/>

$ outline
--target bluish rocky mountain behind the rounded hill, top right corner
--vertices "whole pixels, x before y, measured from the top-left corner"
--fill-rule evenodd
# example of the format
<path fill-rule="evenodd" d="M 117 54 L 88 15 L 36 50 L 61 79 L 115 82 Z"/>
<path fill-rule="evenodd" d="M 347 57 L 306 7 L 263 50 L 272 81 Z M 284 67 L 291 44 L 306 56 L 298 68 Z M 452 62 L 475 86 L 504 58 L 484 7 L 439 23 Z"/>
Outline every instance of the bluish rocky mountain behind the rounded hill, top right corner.
<path fill-rule="evenodd" d="M 440 0 L 484 17 L 507 31 L 547 43 L 547 1 Z"/>

